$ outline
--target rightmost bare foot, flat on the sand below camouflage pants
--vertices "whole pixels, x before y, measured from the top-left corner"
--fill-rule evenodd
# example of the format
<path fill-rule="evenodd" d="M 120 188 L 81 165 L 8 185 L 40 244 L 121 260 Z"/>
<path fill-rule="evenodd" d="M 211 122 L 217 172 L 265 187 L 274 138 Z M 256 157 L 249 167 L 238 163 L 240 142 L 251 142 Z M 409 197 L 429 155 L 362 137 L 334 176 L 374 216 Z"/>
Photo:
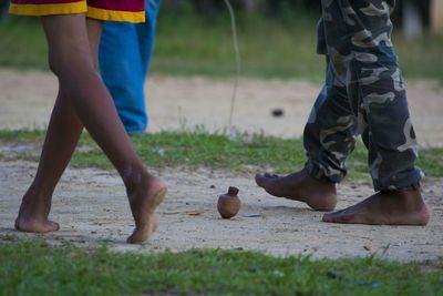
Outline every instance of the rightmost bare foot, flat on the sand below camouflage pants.
<path fill-rule="evenodd" d="M 429 218 L 420 190 L 381 191 L 353 206 L 323 215 L 323 222 L 373 225 L 426 225 Z"/>

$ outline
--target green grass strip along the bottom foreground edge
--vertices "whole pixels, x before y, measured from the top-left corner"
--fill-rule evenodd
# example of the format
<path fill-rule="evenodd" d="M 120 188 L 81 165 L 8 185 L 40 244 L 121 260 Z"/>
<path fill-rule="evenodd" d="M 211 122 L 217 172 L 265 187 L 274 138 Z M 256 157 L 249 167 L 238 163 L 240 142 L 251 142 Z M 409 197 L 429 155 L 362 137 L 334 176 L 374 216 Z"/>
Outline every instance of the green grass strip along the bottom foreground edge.
<path fill-rule="evenodd" d="M 442 295 L 443 261 L 276 258 L 205 249 L 156 255 L 0 237 L 0 295 Z M 424 265 L 426 265 L 424 268 Z M 431 265 L 431 266 L 430 266 Z"/>

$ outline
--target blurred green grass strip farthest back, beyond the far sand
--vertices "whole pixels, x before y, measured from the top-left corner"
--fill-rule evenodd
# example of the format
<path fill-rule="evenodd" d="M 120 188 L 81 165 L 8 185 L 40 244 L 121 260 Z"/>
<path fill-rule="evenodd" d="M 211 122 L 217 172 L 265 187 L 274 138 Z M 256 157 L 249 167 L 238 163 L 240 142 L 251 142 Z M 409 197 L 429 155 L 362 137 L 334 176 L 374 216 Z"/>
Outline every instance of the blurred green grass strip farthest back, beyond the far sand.
<path fill-rule="evenodd" d="M 317 17 L 298 12 L 282 20 L 239 14 L 243 75 L 320 81 L 323 57 L 315 53 Z M 47 44 L 39 21 L 11 18 L 0 24 L 0 67 L 48 70 Z M 159 14 L 152 71 L 167 75 L 230 76 L 235 58 L 227 13 L 208 19 L 190 12 Z M 443 37 L 406 41 L 394 38 L 406 78 L 443 78 Z"/>

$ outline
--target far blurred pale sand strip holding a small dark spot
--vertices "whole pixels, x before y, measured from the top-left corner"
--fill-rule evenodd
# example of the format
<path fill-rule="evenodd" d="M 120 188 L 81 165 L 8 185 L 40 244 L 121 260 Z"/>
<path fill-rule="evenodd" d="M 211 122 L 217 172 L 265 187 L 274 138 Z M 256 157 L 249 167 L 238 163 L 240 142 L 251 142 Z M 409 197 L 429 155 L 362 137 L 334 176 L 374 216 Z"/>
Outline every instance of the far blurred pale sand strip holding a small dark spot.
<path fill-rule="evenodd" d="M 203 78 L 156 78 L 146 86 L 151 131 L 219 131 L 228 125 L 233 83 Z M 319 84 L 305 81 L 243 80 L 234 124 L 240 131 L 300 136 Z M 443 86 L 432 81 L 408 83 L 412 120 L 421 145 L 443 146 Z M 0 126 L 41 127 L 49 121 L 56 80 L 45 72 L 0 70 Z M 272 118 L 271 110 L 285 115 Z"/>

